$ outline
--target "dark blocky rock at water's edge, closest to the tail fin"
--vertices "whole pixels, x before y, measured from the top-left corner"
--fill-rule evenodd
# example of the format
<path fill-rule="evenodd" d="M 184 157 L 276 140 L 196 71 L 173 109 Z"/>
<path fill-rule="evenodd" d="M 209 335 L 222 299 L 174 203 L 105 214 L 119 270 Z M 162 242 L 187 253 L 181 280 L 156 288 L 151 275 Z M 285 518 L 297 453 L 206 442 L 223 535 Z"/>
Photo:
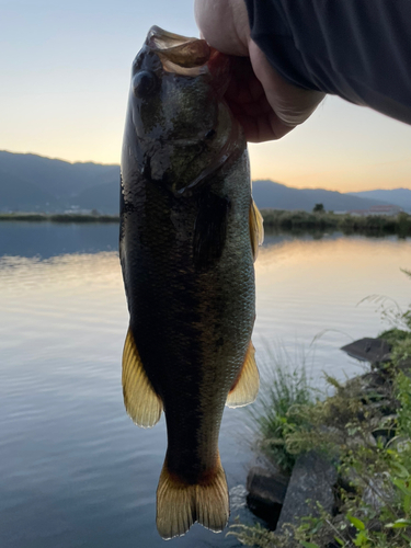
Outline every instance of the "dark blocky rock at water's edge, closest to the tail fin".
<path fill-rule="evenodd" d="M 254 466 L 247 477 L 247 503 L 258 517 L 274 529 L 283 506 L 289 478 L 278 471 Z"/>

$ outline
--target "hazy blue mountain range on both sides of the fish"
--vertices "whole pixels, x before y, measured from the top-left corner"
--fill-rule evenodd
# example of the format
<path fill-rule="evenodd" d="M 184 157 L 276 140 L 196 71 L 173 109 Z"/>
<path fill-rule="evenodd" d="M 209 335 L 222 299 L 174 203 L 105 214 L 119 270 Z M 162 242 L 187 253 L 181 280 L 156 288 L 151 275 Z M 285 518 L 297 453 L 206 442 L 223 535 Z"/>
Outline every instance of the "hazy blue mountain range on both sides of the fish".
<path fill-rule="evenodd" d="M 118 213 L 119 167 L 93 162 L 70 163 L 36 155 L 0 151 L 0 212 L 64 212 L 96 209 Z M 293 189 L 273 181 L 254 181 L 260 208 L 312 210 L 368 209 L 392 204 L 411 210 L 411 190 L 340 193 L 321 189 Z"/>

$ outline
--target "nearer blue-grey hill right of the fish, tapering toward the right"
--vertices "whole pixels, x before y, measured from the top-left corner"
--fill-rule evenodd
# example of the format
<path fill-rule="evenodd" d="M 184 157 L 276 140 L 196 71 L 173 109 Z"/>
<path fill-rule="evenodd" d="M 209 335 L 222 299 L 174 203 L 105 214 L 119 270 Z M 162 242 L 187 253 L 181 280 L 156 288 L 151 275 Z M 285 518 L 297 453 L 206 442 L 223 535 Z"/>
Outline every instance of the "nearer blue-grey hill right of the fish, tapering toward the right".
<path fill-rule="evenodd" d="M 368 209 L 373 205 L 392 204 L 392 202 L 363 198 L 322 189 L 293 189 L 273 181 L 254 181 L 253 197 L 260 209 L 302 209 L 311 212 L 316 204 L 322 204 L 328 212 L 349 212 Z"/>

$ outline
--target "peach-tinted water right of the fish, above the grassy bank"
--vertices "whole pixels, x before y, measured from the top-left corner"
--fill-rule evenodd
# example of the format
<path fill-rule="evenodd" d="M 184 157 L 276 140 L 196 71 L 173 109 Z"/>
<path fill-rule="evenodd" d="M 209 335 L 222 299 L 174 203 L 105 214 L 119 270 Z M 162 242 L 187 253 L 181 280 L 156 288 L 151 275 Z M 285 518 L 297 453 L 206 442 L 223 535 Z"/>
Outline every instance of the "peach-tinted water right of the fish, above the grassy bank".
<path fill-rule="evenodd" d="M 355 374 L 358 363 L 339 351 L 350 340 L 388 329 L 369 295 L 386 295 L 403 309 L 411 283 L 401 272 L 411 263 L 411 241 L 395 237 L 324 236 L 321 240 L 276 237 L 256 263 L 255 341 L 281 340 L 290 352 L 315 345 L 313 375 L 323 369 L 339 378 Z"/>

